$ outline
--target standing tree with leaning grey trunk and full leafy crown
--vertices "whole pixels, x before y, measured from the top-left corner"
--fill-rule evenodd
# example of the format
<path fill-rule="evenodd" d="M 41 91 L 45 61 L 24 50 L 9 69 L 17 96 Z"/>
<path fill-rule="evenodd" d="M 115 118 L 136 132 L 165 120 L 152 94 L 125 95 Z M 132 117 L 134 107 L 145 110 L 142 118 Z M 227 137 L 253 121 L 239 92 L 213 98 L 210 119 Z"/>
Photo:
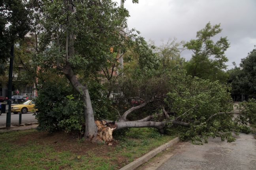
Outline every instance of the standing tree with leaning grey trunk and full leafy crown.
<path fill-rule="evenodd" d="M 94 139 L 98 129 L 88 82 L 79 82 L 77 75 L 83 72 L 89 77 L 109 67 L 109 61 L 113 60 L 111 47 L 124 53 L 126 46 L 134 46 L 136 41 L 132 40 L 136 37 L 132 31 L 120 34 L 123 27 L 127 28 L 128 11 L 111 0 L 41 2 L 43 31 L 39 44 L 42 53 L 38 57 L 41 63 L 61 70 L 81 94 L 85 107 L 85 136 Z"/>

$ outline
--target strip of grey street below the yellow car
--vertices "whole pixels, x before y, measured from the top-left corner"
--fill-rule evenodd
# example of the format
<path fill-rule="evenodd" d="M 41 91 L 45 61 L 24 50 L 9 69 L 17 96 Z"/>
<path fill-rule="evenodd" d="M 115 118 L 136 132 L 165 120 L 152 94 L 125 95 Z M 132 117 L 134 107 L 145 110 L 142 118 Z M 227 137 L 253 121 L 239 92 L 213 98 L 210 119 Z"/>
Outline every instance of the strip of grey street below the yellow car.
<path fill-rule="evenodd" d="M 37 122 L 33 113 L 25 113 L 21 116 L 21 123 Z M 11 113 L 11 125 L 19 124 L 19 114 Z M 0 115 L 0 126 L 6 126 L 6 113 Z"/>

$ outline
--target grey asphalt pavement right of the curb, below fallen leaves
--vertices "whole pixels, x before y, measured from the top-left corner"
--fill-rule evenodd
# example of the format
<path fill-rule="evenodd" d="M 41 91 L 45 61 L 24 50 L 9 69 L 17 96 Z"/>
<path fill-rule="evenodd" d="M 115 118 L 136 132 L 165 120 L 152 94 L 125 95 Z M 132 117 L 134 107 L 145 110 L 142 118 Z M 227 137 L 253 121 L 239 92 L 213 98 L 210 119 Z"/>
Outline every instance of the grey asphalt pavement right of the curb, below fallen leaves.
<path fill-rule="evenodd" d="M 171 152 L 157 170 L 256 170 L 256 139 L 252 134 L 241 133 L 231 143 L 220 139 L 209 139 L 202 146 L 179 142 Z"/>

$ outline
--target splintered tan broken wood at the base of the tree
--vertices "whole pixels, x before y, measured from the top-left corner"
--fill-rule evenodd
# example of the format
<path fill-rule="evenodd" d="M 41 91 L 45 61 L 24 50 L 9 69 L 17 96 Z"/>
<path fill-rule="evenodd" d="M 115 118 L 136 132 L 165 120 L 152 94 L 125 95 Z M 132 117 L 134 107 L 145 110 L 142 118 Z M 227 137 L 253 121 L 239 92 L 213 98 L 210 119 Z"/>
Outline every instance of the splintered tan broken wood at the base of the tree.
<path fill-rule="evenodd" d="M 112 145 L 113 137 L 112 133 L 113 130 L 116 128 L 114 124 L 107 123 L 104 120 L 96 120 L 95 124 L 98 127 L 98 140 L 104 141 L 107 145 Z"/>

